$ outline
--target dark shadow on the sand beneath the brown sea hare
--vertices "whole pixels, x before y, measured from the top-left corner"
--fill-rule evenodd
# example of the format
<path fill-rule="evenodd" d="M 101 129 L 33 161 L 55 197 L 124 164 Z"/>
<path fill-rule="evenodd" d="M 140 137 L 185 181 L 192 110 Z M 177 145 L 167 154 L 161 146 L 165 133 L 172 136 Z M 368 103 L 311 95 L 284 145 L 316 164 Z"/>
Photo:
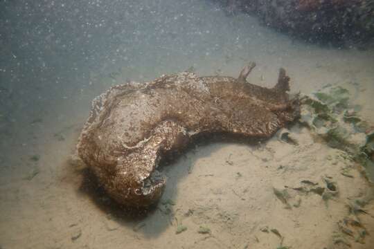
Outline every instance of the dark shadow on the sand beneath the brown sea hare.
<path fill-rule="evenodd" d="M 235 142 L 234 142 L 235 141 Z M 78 193 L 82 196 L 88 196 L 92 203 L 107 215 L 107 218 L 132 229 L 134 232 L 141 232 L 146 238 L 159 237 L 168 227 L 177 226 L 175 221 L 175 209 L 178 203 L 174 203 L 178 191 L 179 181 L 188 176 L 193 171 L 196 160 L 199 158 L 209 158 L 214 151 L 227 144 L 246 144 L 256 146 L 260 140 L 246 140 L 243 138 L 233 138 L 232 136 L 217 135 L 212 137 L 202 136 L 190 144 L 183 154 L 179 153 L 169 156 L 160 162 L 159 171 L 167 178 L 167 183 L 163 196 L 158 203 L 150 208 L 129 208 L 119 205 L 111 199 L 104 188 L 100 186 L 96 176 L 89 167 L 71 164 L 71 167 L 81 177 L 78 186 Z M 199 148 L 199 156 L 195 151 Z M 78 169 L 80 167 L 80 169 Z"/>

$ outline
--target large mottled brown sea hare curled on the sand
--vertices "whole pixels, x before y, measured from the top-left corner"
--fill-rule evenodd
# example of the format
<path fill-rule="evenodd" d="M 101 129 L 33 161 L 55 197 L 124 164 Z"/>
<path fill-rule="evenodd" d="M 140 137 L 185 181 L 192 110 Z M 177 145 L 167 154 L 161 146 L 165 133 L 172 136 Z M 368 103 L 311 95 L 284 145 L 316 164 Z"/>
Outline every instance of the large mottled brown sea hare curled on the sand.
<path fill-rule="evenodd" d="M 268 138 L 299 116 L 284 69 L 267 89 L 247 82 L 254 66 L 244 67 L 238 79 L 179 73 L 113 86 L 93 101 L 78 155 L 118 203 L 157 202 L 166 183 L 157 172 L 163 156 L 201 134 Z"/>

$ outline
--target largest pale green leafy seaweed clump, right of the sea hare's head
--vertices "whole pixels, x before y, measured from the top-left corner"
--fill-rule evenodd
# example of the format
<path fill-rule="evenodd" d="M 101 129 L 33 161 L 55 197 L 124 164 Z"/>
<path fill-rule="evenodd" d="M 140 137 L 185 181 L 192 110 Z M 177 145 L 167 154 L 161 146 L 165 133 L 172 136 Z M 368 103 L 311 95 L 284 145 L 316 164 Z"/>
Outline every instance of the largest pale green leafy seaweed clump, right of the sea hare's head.
<path fill-rule="evenodd" d="M 368 124 L 351 105 L 349 91 L 341 86 L 326 86 L 312 95 L 303 96 L 301 123 L 310 127 L 328 146 L 346 151 L 350 157 L 366 169 L 373 164 L 373 126 Z M 342 173 L 352 178 L 346 172 Z M 364 174 L 374 181 L 374 170 Z"/>

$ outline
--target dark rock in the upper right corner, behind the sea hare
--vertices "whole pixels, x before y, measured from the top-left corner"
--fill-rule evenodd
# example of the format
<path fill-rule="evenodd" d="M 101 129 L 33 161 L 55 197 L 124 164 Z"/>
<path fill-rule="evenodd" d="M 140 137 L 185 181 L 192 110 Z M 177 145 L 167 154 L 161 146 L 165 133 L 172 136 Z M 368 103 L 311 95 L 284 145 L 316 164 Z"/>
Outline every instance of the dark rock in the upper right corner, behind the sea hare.
<path fill-rule="evenodd" d="M 365 48 L 374 38 L 374 0 L 215 0 L 312 42 Z M 236 11 L 237 12 L 237 11 Z"/>

